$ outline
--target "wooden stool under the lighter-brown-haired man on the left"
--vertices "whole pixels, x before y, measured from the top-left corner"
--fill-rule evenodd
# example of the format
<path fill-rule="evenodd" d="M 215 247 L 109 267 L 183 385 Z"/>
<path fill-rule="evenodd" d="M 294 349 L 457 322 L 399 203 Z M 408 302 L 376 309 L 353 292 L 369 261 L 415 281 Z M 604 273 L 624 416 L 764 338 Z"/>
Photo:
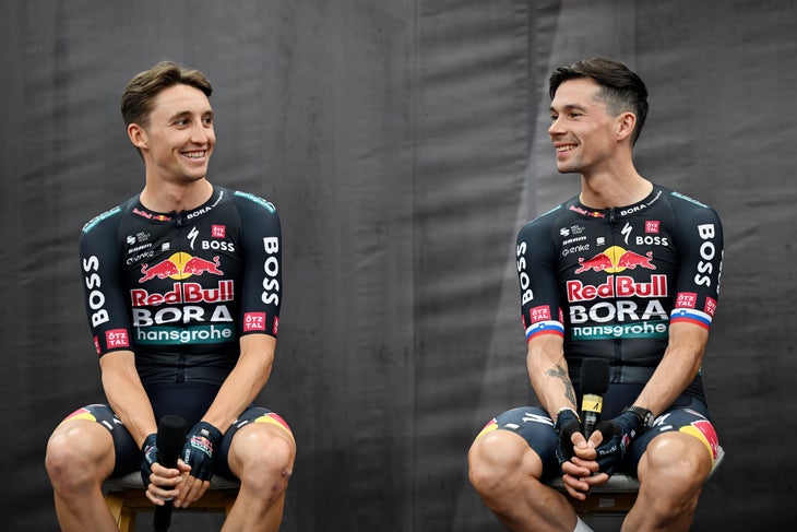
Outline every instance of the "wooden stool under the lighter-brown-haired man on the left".
<path fill-rule="evenodd" d="M 237 480 L 228 480 L 214 475 L 211 480 L 211 487 L 204 496 L 193 503 L 186 510 L 209 513 L 229 513 L 238 496 L 240 483 Z M 144 487 L 141 483 L 141 473 L 130 473 L 119 478 L 108 478 L 103 483 L 105 501 L 116 519 L 121 532 L 135 530 L 135 515 L 140 511 L 153 512 L 155 505 L 144 495 Z"/>

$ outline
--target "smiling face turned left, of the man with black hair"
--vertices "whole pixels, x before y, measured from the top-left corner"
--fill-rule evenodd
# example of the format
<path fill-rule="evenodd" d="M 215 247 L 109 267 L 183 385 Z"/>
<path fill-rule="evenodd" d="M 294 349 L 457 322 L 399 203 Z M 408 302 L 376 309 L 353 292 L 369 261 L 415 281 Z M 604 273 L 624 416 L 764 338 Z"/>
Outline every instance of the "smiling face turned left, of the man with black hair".
<path fill-rule="evenodd" d="M 612 116 L 598 97 L 600 85 L 580 78 L 557 88 L 550 104 L 548 134 L 554 142 L 557 169 L 562 174 L 590 174 L 611 164 L 617 150 L 628 150 L 627 120 L 633 114 Z"/>

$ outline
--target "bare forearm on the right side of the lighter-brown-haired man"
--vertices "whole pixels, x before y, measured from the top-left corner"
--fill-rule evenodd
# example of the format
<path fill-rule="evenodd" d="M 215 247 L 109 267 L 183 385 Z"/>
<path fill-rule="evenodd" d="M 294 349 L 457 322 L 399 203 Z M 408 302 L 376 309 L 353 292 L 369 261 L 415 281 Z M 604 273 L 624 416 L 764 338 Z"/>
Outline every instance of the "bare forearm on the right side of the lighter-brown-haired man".
<path fill-rule="evenodd" d="M 276 339 L 265 334 L 241 338 L 241 355 L 202 421 L 225 433 L 262 391 L 271 375 Z"/>

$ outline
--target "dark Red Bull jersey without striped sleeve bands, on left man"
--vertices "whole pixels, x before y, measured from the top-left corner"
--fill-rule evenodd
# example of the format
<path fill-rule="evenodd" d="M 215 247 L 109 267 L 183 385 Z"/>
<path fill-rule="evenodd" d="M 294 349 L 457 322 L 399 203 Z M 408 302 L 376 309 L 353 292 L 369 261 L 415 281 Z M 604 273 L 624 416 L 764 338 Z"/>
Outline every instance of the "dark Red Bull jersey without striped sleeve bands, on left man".
<path fill-rule="evenodd" d="M 129 350 L 145 387 L 221 386 L 243 334 L 277 334 L 274 205 L 214 187 L 203 205 L 156 213 L 139 198 L 83 227 L 85 303 L 97 354 Z"/>

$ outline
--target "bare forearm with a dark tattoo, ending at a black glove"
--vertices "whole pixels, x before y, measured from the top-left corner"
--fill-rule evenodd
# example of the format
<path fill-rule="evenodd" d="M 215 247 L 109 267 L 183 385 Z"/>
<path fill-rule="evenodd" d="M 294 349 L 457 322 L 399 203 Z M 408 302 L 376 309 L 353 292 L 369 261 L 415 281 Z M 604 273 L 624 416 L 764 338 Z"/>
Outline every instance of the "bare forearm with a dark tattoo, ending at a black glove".
<path fill-rule="evenodd" d="M 555 421 L 559 410 L 576 410 L 575 390 L 570 381 L 560 336 L 544 335 L 532 340 L 526 367 L 534 393 Z"/>

